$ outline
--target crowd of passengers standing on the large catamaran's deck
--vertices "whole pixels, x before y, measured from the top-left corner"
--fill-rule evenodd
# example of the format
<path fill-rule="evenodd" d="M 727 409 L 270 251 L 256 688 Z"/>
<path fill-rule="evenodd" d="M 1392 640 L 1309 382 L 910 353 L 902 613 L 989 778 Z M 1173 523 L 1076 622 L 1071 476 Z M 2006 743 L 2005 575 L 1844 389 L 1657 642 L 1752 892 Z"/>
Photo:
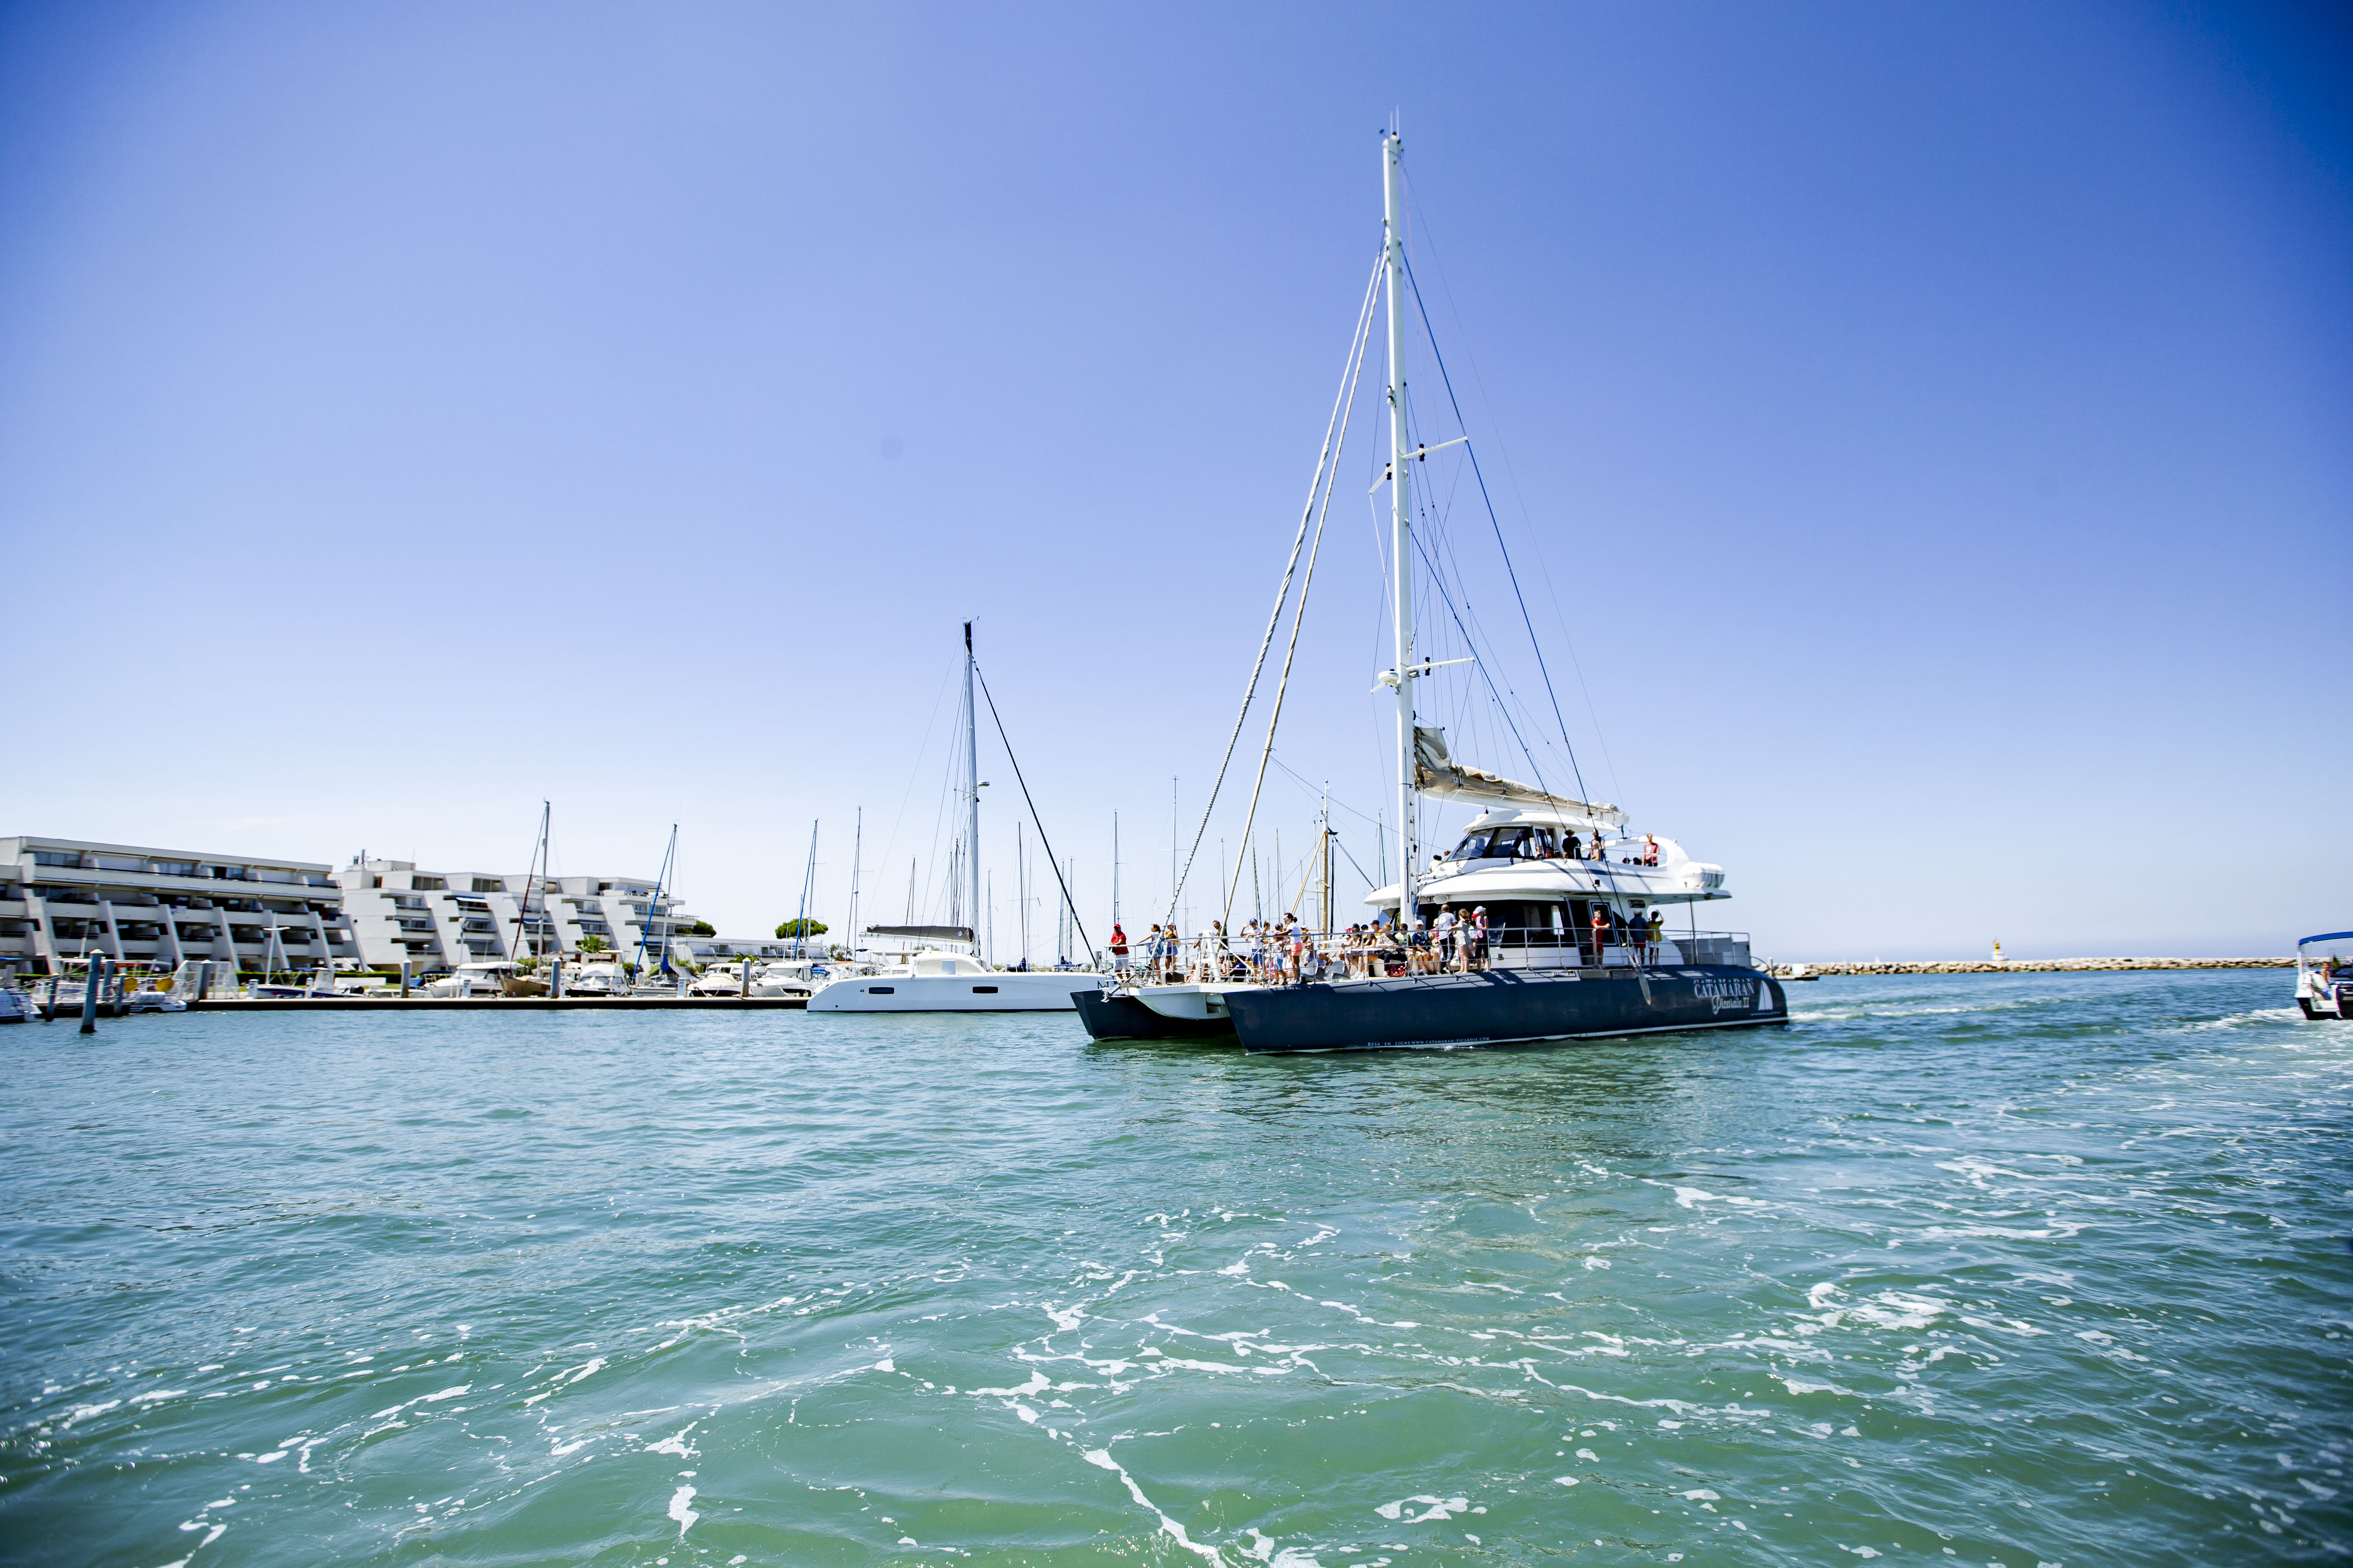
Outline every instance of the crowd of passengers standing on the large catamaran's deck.
<path fill-rule="evenodd" d="M 1591 945 L 1581 938 L 1591 938 Z M 1624 914 L 1595 903 L 1591 931 L 1569 940 L 1579 940 L 1579 957 L 1595 966 L 1607 961 L 1609 950 L 1621 954 L 1619 961 L 1652 964 L 1666 940 L 1666 917 L 1661 910 L 1645 917 L 1642 910 Z M 1209 922 L 1209 931 L 1195 943 L 1179 938 L 1176 926 L 1155 922 L 1141 943 L 1141 976 L 1136 957 L 1129 952 L 1127 931 L 1113 922 L 1111 966 L 1146 985 L 1301 985 L 1334 978 L 1473 973 L 1489 964 L 1487 905 L 1464 912 L 1438 905 L 1431 924 L 1414 931 L 1398 931 L 1395 917 L 1384 914 L 1372 924 L 1315 933 L 1297 914 L 1285 914 L 1254 919 L 1228 940 L 1224 922 Z"/>

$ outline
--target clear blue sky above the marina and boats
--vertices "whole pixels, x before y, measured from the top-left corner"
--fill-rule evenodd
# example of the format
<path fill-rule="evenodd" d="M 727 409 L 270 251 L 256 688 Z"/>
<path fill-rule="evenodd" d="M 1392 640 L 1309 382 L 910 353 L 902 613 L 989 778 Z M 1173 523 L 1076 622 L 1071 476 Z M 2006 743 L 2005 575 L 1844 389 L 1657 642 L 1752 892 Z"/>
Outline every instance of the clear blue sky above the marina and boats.
<path fill-rule="evenodd" d="M 845 914 L 864 806 L 894 917 L 974 616 L 1096 938 L 1122 813 L 1136 929 L 1395 106 L 1569 741 L 1727 865 L 1715 924 L 2280 952 L 2353 924 L 2348 38 L 2162 5 L 9 7 L 0 830 L 520 867 L 553 797 L 558 870 L 645 875 L 678 820 L 692 907 L 767 929 L 812 818 Z M 1280 750 L 1367 811 L 1369 433 Z M 1271 806 L 1292 856 L 1308 792 Z"/>

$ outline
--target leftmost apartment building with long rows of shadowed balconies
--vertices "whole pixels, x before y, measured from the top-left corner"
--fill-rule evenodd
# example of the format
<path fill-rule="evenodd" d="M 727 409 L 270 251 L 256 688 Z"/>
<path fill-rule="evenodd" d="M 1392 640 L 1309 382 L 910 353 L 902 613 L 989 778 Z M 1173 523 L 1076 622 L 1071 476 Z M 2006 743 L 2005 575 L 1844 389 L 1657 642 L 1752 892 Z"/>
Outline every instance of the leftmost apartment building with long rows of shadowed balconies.
<path fill-rule="evenodd" d="M 308 860 L 186 849 L 0 839 L 0 969 L 56 973 L 68 959 L 176 969 L 221 959 L 247 973 L 355 959 L 344 889 Z"/>

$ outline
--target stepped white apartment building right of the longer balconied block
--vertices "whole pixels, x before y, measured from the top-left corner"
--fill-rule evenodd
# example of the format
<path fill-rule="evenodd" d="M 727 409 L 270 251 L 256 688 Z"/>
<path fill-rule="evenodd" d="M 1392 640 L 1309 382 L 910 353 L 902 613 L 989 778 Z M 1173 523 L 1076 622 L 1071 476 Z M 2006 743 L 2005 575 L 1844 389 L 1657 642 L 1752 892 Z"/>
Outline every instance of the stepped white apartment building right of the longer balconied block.
<path fill-rule="evenodd" d="M 652 877 L 544 877 L 525 898 L 532 879 L 522 872 L 421 872 L 414 860 L 353 858 L 334 879 L 362 961 L 407 964 L 412 973 L 579 952 L 591 936 L 631 957 L 640 938 L 659 950 L 664 936 L 694 924 L 678 898 L 654 896 Z"/>

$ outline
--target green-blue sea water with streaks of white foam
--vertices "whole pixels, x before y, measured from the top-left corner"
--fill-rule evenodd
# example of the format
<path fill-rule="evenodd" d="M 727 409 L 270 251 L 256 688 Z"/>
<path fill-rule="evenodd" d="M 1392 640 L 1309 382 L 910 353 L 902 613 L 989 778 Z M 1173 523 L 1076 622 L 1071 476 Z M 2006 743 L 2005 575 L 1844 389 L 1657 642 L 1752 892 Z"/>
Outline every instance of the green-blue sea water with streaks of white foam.
<path fill-rule="evenodd" d="M 2344 1561 L 2353 1023 L 2278 971 L 1791 994 L 1322 1058 L 0 1030 L 0 1554 Z"/>

